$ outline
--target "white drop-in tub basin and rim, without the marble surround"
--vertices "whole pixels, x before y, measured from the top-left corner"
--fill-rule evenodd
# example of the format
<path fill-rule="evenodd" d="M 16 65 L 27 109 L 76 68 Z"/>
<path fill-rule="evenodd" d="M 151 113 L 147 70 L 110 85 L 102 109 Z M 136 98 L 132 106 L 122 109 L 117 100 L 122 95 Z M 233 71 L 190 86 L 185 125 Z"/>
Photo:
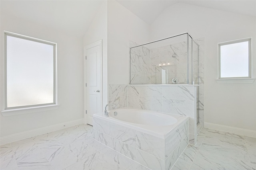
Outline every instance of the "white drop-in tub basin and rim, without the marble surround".
<path fill-rule="evenodd" d="M 117 115 L 114 115 L 117 112 Z M 123 125 L 150 135 L 165 139 L 178 125 L 188 121 L 188 117 L 180 115 L 168 115 L 156 111 L 141 109 L 122 108 L 108 112 L 106 117 L 102 114 L 95 114 L 94 117 L 105 119 L 118 125 Z"/>

